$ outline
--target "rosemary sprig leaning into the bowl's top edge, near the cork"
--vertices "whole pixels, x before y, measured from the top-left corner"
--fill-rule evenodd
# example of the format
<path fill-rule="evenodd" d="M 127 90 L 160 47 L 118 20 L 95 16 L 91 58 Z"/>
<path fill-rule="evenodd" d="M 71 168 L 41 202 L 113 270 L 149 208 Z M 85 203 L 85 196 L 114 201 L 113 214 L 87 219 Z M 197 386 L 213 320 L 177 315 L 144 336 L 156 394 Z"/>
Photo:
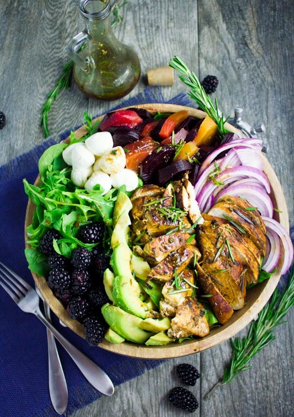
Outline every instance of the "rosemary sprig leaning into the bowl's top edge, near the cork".
<path fill-rule="evenodd" d="M 198 106 L 203 109 L 208 114 L 208 116 L 217 124 L 218 130 L 222 137 L 225 133 L 228 132 L 228 130 L 226 130 L 224 127 L 224 124 L 228 118 L 224 119 L 223 113 L 220 116 L 217 98 L 215 98 L 215 105 L 213 105 L 210 97 L 205 93 L 204 88 L 200 84 L 199 79 L 196 77 L 193 71 L 189 70 L 187 65 L 179 57 L 175 55 L 169 62 L 169 65 L 180 73 L 180 75 L 178 75 L 179 79 L 191 88 L 188 96 L 195 100 Z"/>

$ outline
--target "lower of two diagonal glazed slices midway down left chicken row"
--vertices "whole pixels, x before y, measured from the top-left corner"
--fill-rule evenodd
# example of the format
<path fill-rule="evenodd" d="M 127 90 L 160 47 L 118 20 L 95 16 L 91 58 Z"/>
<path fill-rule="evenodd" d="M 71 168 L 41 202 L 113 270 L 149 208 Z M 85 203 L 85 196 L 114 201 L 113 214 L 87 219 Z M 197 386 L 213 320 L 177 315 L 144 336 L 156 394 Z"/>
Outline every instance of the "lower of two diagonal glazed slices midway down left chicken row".
<path fill-rule="evenodd" d="M 155 279 L 159 282 L 168 282 L 174 277 L 174 270 L 179 275 L 195 257 L 199 250 L 193 245 L 184 245 L 169 253 L 169 255 L 153 267 L 147 279 Z"/>

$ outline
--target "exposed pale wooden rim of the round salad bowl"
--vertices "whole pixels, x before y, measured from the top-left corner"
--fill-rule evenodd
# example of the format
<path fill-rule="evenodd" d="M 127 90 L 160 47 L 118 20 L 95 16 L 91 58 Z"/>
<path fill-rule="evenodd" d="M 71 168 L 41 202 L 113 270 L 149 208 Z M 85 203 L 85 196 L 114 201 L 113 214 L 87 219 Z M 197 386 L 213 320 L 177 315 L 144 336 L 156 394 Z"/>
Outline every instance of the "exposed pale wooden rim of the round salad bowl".
<path fill-rule="evenodd" d="M 206 116 L 206 113 L 204 113 L 203 111 L 174 104 L 142 104 L 133 107 L 144 108 L 148 110 L 150 113 L 154 113 L 157 111 L 176 112 L 180 110 L 188 110 L 191 116 L 196 116 L 197 118 L 202 119 Z M 102 118 L 103 116 L 100 116 L 96 120 Z M 235 129 L 233 126 L 229 124 L 227 124 L 226 127 L 228 127 L 231 131 L 235 133 L 240 133 L 237 129 Z M 85 133 L 86 128 L 85 126 L 82 126 L 75 131 L 75 137 L 80 138 Z M 280 182 L 267 158 L 264 155 L 262 155 L 262 158 L 264 162 L 264 173 L 267 175 L 270 181 L 270 197 L 272 199 L 273 206 L 276 209 L 278 209 L 278 211 L 274 212 L 274 219 L 276 221 L 279 221 L 282 224 L 282 226 L 284 226 L 284 228 L 287 231 L 289 231 L 287 205 Z M 38 180 L 39 176 L 37 177 L 36 182 Z M 25 216 L 25 230 L 27 226 L 32 222 L 34 210 L 35 205 L 31 200 L 29 200 Z M 26 247 L 29 247 L 27 243 Z M 252 321 L 258 315 L 261 309 L 265 306 L 280 279 L 280 271 L 283 257 L 284 253 L 282 252 L 281 259 L 276 268 L 276 272 L 273 275 L 271 275 L 269 279 L 263 281 L 261 284 L 257 284 L 256 286 L 247 291 L 246 304 L 244 308 L 242 310 L 234 311 L 234 314 L 226 324 L 222 325 L 221 327 L 215 327 L 211 329 L 210 334 L 202 339 L 198 338 L 194 340 L 186 340 L 182 343 L 175 342 L 163 346 L 146 346 L 145 344 L 139 345 L 130 342 L 113 344 L 104 340 L 102 343 L 99 344 L 99 347 L 114 353 L 136 358 L 165 359 L 190 355 L 192 353 L 201 352 L 202 350 L 206 350 L 210 347 L 216 346 L 217 344 L 222 343 L 235 336 L 248 323 L 250 323 L 250 321 Z M 53 313 L 55 313 L 56 316 L 70 329 L 72 329 L 76 334 L 78 334 L 82 338 L 85 338 L 82 325 L 77 320 L 73 320 L 68 316 L 66 309 L 63 307 L 61 302 L 53 295 L 52 291 L 48 287 L 45 278 L 37 275 L 35 272 L 32 272 L 32 275 L 37 287 L 39 288 L 41 294 L 43 295 L 45 301 L 48 303 Z"/>

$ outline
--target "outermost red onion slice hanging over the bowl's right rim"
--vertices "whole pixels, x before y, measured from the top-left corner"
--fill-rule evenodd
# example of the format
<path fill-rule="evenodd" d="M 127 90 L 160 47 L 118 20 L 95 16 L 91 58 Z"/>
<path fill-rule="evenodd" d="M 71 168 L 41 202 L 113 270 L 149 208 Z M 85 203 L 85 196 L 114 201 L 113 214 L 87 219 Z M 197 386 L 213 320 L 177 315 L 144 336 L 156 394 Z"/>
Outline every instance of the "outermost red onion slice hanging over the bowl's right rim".
<path fill-rule="evenodd" d="M 284 260 L 281 266 L 281 275 L 283 275 L 289 268 L 291 267 L 293 261 L 293 244 L 291 242 L 291 238 L 287 230 L 282 226 L 278 221 L 271 219 L 270 217 L 262 216 L 262 220 L 265 223 L 267 233 L 275 232 L 281 241 L 283 252 L 284 252 Z M 269 255 L 270 256 L 270 255 Z"/>

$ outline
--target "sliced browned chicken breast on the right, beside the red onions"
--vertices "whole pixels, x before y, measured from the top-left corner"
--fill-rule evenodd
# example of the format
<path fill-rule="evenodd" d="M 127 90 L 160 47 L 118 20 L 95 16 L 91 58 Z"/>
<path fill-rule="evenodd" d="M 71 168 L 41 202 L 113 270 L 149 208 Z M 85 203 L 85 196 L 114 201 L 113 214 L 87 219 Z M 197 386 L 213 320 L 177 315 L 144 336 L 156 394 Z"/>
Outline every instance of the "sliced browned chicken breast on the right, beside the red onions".
<path fill-rule="evenodd" d="M 209 301 L 220 319 L 225 305 L 221 296 L 231 309 L 239 310 L 245 303 L 246 285 L 257 282 L 266 253 L 266 228 L 258 211 L 240 197 L 222 197 L 203 218 L 203 224 L 196 227 L 202 253 L 197 271 L 201 288 L 211 295 Z M 224 314 L 220 322 L 224 324 L 229 317 Z"/>

